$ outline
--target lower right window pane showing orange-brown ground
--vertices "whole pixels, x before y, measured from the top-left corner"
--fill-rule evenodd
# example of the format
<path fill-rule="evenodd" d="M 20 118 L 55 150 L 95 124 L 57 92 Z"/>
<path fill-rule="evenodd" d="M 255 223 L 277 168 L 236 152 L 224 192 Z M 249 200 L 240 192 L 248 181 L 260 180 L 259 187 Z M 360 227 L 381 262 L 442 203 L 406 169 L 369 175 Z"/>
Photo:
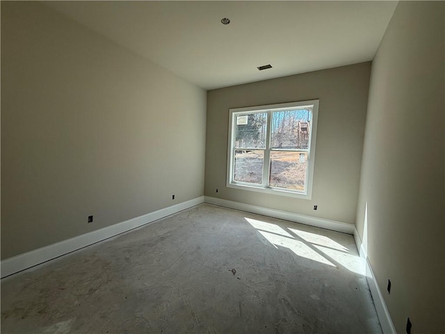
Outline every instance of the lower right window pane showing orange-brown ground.
<path fill-rule="evenodd" d="M 305 191 L 306 152 L 270 152 L 270 186 Z"/>

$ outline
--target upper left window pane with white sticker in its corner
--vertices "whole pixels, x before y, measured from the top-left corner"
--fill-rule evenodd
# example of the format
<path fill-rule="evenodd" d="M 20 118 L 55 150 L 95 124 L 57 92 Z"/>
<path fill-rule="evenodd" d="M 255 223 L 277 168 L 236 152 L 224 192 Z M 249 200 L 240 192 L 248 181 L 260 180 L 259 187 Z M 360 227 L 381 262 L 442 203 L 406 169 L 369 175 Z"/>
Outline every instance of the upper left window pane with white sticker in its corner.
<path fill-rule="evenodd" d="M 235 116 L 235 148 L 266 148 L 267 113 Z"/>

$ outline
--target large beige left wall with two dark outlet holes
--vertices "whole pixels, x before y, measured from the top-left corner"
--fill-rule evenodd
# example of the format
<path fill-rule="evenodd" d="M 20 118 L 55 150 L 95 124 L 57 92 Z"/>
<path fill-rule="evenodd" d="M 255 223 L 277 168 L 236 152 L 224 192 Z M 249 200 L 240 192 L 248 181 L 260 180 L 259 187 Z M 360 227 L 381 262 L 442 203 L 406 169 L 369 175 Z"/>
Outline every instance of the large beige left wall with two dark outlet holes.
<path fill-rule="evenodd" d="M 205 90 L 2 1 L 1 258 L 202 196 L 205 121 Z"/>

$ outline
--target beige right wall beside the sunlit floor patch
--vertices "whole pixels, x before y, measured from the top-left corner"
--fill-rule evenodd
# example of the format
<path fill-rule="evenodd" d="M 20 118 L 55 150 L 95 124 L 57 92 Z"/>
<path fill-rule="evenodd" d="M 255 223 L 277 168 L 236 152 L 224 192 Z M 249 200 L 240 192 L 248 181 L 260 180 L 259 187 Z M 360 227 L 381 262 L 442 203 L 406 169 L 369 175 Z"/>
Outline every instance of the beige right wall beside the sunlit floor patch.
<path fill-rule="evenodd" d="M 445 331 L 444 17 L 401 1 L 371 71 L 357 230 L 398 333 Z"/>

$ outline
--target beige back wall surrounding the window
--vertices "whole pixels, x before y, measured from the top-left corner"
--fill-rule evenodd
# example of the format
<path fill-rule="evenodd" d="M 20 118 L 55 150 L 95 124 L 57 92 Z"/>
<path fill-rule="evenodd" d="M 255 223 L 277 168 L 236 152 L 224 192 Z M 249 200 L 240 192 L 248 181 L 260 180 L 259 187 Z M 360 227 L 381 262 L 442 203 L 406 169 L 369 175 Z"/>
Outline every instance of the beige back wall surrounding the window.
<path fill-rule="evenodd" d="M 369 73 L 370 63 L 360 63 L 210 90 L 205 195 L 353 224 Z M 320 100 L 320 106 L 312 200 L 227 188 L 229 108 L 314 99 Z"/>

